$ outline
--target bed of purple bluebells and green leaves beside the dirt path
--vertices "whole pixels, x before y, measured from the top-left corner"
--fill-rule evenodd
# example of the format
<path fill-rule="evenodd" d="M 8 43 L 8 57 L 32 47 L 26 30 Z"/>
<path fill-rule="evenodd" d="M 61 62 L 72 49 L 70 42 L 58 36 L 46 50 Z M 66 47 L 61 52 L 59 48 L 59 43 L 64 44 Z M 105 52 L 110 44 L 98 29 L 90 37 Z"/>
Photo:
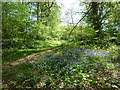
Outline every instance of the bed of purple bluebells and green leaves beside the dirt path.
<path fill-rule="evenodd" d="M 15 66 L 11 88 L 119 88 L 119 64 L 110 60 L 105 51 L 57 47 L 31 64 Z M 26 68 L 25 68 L 26 67 Z M 24 70 L 26 69 L 26 70 Z M 14 69 L 12 69 L 14 70 Z M 23 70 L 23 71 L 22 71 Z M 27 72 L 26 72 L 27 71 Z M 15 75 L 15 76 L 14 76 Z"/>

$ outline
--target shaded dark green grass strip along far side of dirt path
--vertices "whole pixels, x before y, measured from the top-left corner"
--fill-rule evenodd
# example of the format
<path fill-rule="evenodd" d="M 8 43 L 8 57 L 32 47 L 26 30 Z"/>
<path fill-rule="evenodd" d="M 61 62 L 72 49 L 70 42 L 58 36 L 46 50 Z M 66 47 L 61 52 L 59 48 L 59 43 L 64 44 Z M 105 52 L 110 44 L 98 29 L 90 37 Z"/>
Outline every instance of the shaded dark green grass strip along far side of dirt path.
<path fill-rule="evenodd" d="M 31 55 L 32 53 L 45 52 L 47 50 L 53 50 L 53 49 L 58 50 L 58 48 L 60 47 L 61 45 L 50 48 L 44 48 L 44 49 L 22 49 L 14 52 L 7 52 L 2 55 L 2 62 L 3 64 L 7 62 L 13 62 L 16 61 L 17 59 Z"/>

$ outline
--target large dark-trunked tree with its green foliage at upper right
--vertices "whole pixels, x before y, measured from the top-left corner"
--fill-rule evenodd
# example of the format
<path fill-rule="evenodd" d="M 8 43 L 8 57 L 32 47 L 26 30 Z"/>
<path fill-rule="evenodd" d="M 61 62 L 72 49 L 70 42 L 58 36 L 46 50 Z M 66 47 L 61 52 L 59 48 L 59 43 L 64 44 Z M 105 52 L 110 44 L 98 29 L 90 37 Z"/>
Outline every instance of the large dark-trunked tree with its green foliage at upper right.
<path fill-rule="evenodd" d="M 117 27 L 120 24 L 118 2 L 90 2 L 86 8 L 92 8 L 87 15 L 86 22 L 91 24 L 95 30 L 95 37 L 115 42 Z"/>

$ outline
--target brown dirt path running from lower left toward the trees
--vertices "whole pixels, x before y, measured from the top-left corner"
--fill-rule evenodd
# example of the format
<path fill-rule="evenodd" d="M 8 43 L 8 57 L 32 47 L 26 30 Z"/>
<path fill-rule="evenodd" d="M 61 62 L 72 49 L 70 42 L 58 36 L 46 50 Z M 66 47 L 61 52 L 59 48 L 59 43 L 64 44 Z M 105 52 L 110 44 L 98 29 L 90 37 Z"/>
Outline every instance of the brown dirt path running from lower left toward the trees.
<path fill-rule="evenodd" d="M 48 53 L 57 53 L 56 51 L 53 51 L 55 47 L 51 47 L 45 50 L 42 50 L 41 52 L 32 53 L 31 55 L 28 55 L 27 57 L 20 58 L 13 62 L 8 62 L 6 64 L 2 64 L 2 86 L 8 87 L 11 80 L 16 79 L 16 75 L 20 73 L 22 70 L 26 70 L 27 63 L 34 62 L 34 60 L 39 60 L 39 58 L 47 55 Z"/>

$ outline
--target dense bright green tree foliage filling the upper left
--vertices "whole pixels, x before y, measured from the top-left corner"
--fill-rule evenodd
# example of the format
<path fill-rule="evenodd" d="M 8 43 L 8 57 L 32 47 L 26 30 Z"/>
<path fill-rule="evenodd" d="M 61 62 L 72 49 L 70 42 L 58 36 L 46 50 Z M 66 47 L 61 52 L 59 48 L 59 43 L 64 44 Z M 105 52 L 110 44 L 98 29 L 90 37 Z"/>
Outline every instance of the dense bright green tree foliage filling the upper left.
<path fill-rule="evenodd" d="M 50 5 L 50 2 L 48 3 Z M 35 48 L 36 40 L 45 41 L 59 37 L 59 7 L 56 3 L 51 7 L 44 2 L 40 5 L 40 7 L 43 6 L 42 9 L 44 9 L 43 12 L 39 11 L 40 15 L 44 13 L 47 17 L 40 18 L 40 16 L 41 22 L 37 22 L 37 20 L 35 20 L 37 15 L 34 13 L 37 12 L 36 3 L 3 2 L 3 48 Z M 49 7 L 46 8 L 45 6 Z"/>

